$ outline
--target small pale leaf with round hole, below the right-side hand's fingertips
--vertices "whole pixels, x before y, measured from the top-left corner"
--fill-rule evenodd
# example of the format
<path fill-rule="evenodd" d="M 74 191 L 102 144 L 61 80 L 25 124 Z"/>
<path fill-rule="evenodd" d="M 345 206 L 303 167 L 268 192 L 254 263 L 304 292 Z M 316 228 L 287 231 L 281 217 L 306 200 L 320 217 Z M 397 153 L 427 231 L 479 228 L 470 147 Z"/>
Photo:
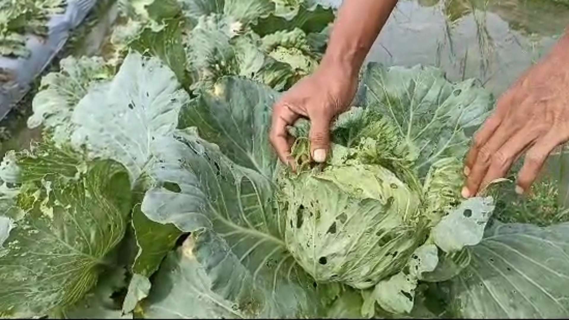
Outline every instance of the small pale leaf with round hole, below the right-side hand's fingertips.
<path fill-rule="evenodd" d="M 460 251 L 467 245 L 478 244 L 493 210 L 492 197 L 466 199 L 432 228 L 432 240 L 447 253 Z"/>

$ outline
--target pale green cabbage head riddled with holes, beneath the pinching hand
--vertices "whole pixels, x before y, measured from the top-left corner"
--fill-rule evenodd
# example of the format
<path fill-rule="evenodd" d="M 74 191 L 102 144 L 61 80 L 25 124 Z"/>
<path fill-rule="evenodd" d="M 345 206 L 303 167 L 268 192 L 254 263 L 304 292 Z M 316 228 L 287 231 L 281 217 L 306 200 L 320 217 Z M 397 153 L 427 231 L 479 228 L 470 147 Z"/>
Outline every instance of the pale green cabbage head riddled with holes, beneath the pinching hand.
<path fill-rule="evenodd" d="M 297 141 L 299 174 L 282 179 L 292 255 L 316 281 L 360 289 L 398 272 L 426 236 L 418 190 L 357 148 L 335 145 L 327 165 L 310 168 L 307 146 Z"/>

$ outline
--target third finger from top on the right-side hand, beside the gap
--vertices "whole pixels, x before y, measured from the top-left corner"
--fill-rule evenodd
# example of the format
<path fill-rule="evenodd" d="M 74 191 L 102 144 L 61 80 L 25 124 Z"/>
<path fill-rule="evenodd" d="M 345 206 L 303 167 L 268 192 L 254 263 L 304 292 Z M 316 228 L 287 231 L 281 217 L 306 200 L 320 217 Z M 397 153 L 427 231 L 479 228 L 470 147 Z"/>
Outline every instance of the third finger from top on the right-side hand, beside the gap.
<path fill-rule="evenodd" d="M 504 145 L 492 155 L 490 166 L 480 183 L 479 190 L 483 190 L 493 180 L 504 178 L 513 163 L 517 161 L 527 146 L 531 145 L 537 137 L 537 132 L 518 131 L 512 139 L 504 143 Z"/>

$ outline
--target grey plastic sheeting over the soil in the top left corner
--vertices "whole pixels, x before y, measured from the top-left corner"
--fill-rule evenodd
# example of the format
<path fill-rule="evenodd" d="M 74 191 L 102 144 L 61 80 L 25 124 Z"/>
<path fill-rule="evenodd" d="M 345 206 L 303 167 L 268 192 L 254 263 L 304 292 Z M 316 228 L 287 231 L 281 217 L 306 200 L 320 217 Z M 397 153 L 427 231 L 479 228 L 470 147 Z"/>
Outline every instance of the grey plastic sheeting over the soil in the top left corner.
<path fill-rule="evenodd" d="M 30 90 L 30 84 L 46 68 L 69 38 L 69 32 L 79 26 L 97 0 L 68 0 L 65 13 L 53 15 L 47 39 L 29 34 L 26 47 L 28 58 L 0 56 L 0 71 L 7 75 L 0 82 L 0 120 Z M 1 81 L 1 80 L 0 80 Z"/>

